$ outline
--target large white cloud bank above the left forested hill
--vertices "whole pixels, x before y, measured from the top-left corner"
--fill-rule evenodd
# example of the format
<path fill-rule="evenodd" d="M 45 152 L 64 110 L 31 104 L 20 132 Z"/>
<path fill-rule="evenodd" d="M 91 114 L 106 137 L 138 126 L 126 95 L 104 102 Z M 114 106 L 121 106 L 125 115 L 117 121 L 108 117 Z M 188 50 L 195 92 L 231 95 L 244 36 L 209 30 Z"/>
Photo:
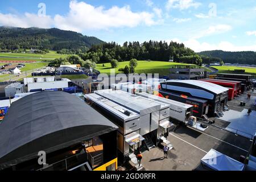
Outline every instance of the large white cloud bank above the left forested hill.
<path fill-rule="evenodd" d="M 69 3 L 69 12 L 67 15 L 38 16 L 36 14 L 25 13 L 1 14 L 0 25 L 14 27 L 56 27 L 63 30 L 84 31 L 84 30 L 107 30 L 115 27 L 136 27 L 141 24 L 151 26 L 162 23 L 160 18 L 162 11 L 155 9 L 154 13 L 146 11 L 133 12 L 130 6 L 105 9 L 103 6 L 92 6 L 85 2 L 72 0 Z"/>

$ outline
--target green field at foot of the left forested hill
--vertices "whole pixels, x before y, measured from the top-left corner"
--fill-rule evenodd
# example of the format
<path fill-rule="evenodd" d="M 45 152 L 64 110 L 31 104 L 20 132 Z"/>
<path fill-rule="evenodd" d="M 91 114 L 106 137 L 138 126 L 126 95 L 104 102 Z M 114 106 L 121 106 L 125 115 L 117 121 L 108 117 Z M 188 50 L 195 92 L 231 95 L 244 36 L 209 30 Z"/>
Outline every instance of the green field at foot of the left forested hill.
<path fill-rule="evenodd" d="M 38 53 L 0 53 L 0 60 L 2 61 L 11 61 L 11 60 L 17 60 L 17 61 L 32 61 L 32 60 L 54 60 L 56 58 L 60 57 L 66 57 L 68 55 L 61 55 L 59 53 L 56 53 L 55 51 L 49 51 L 49 53 L 46 54 L 38 54 Z"/>

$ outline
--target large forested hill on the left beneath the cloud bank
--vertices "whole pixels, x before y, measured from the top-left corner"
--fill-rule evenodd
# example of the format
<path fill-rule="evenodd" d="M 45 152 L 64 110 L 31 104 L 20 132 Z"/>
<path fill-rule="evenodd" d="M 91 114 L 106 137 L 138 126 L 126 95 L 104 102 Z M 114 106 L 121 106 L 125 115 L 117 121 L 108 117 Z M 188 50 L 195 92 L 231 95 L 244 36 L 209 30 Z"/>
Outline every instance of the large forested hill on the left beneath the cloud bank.
<path fill-rule="evenodd" d="M 104 43 L 102 40 L 84 36 L 73 31 L 57 28 L 16 28 L 0 27 L 0 49 L 50 49 L 88 50 L 94 44 Z"/>

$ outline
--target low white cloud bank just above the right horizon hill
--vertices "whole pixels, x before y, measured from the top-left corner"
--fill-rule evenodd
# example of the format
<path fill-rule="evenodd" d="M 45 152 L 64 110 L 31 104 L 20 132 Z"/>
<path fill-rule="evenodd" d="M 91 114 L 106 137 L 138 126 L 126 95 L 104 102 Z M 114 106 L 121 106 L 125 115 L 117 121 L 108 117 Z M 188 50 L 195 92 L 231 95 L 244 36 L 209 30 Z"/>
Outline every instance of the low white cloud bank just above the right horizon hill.
<path fill-rule="evenodd" d="M 189 39 L 183 42 L 186 47 L 191 48 L 195 52 L 201 51 L 212 51 L 212 50 L 222 50 L 222 51 L 256 51 L 256 45 L 251 46 L 235 46 L 230 42 L 222 41 L 217 44 L 209 44 L 207 42 L 200 43 L 196 39 Z"/>

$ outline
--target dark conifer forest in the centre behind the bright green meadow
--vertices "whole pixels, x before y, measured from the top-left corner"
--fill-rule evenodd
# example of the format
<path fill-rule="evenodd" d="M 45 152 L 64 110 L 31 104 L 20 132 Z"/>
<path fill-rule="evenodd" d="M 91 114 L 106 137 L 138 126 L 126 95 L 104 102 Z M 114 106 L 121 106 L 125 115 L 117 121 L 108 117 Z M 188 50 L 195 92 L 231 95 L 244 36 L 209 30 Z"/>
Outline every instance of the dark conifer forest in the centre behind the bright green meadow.
<path fill-rule="evenodd" d="M 119 45 L 115 42 L 92 46 L 88 51 L 79 53 L 83 60 L 92 60 L 94 63 L 109 63 L 112 59 L 118 61 L 156 60 L 169 61 L 170 58 L 178 63 L 193 63 L 200 65 L 202 59 L 192 49 L 186 48 L 183 43 L 171 42 L 125 42 Z"/>

